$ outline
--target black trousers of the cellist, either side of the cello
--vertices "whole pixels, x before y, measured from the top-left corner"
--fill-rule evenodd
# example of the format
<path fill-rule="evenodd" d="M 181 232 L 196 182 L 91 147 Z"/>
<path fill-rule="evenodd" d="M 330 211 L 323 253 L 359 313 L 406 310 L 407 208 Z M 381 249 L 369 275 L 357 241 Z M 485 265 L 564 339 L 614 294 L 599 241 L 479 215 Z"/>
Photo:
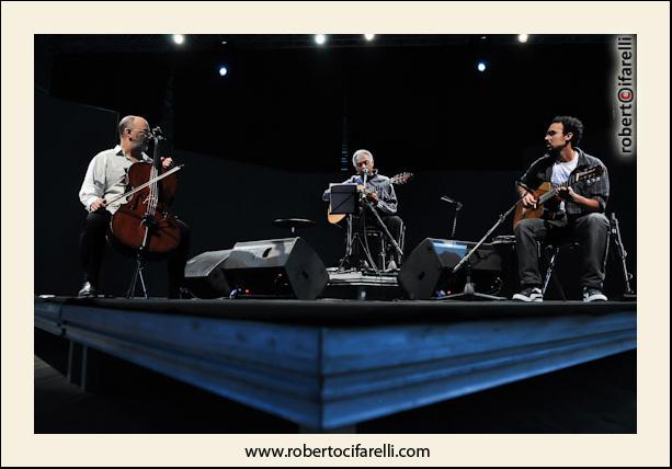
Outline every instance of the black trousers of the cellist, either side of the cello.
<path fill-rule="evenodd" d="M 84 279 L 100 286 L 100 272 L 105 253 L 105 234 L 112 214 L 107 210 L 92 211 L 87 216 L 80 233 L 79 252 L 84 270 Z M 191 230 L 182 220 L 176 220 L 182 232 L 180 245 L 168 254 L 168 296 L 176 298 L 184 281 L 184 265 L 189 255 Z M 125 253 L 130 253 L 129 250 Z"/>

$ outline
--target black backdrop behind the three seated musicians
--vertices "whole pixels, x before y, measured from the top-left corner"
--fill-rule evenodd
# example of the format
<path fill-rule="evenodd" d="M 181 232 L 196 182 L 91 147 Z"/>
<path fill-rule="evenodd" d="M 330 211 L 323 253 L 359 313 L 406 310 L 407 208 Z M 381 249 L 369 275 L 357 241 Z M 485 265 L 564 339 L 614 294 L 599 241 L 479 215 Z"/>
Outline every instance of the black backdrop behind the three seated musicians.
<path fill-rule="evenodd" d="M 486 73 L 475 68 L 480 58 Z M 170 153 L 185 163 L 174 210 L 192 227 L 192 255 L 288 236 L 271 221 L 305 217 L 318 224 L 300 234 L 328 265 L 343 240 L 327 224 L 320 196 L 345 179 L 354 150 L 369 149 L 385 174 L 415 173 L 398 188 L 410 251 L 449 233 L 454 211 L 441 195 L 464 203 L 456 238 L 479 239 L 513 203 L 512 182 L 542 155 L 549 119 L 577 115 L 585 124 L 581 147 L 610 169 L 607 211 L 620 219 L 634 270 L 636 159 L 613 148 L 612 58 L 606 36 L 524 47 L 55 54 L 36 67 L 35 293 L 77 290 L 86 216 L 77 193 L 90 159 L 115 144 L 125 114 L 162 125 Z M 224 78 L 216 72 L 223 62 Z M 498 234 L 509 233 L 506 222 Z M 623 289 L 616 267 L 611 262 L 607 293 Z M 122 293 L 132 270 L 109 250 L 106 290 Z M 149 267 L 150 294 L 164 293 L 164 275 Z"/>

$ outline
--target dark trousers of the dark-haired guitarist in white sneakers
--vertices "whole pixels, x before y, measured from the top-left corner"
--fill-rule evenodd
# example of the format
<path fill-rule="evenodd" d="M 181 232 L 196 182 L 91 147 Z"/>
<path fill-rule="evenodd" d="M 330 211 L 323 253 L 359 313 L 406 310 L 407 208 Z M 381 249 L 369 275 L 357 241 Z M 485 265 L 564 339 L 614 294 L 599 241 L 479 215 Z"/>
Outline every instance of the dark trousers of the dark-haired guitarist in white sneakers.
<path fill-rule="evenodd" d="M 608 248 L 610 222 L 604 214 L 588 214 L 561 220 L 525 219 L 515 227 L 519 274 L 523 288 L 542 286 L 537 241 L 577 241 L 583 249 L 581 284 L 602 289 Z"/>

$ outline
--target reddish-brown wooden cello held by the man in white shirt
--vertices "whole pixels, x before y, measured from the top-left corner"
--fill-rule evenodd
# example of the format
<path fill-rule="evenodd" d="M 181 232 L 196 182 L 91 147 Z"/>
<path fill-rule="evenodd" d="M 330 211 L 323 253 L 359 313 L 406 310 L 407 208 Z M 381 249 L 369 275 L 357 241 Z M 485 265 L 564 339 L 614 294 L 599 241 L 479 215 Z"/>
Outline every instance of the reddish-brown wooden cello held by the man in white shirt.
<path fill-rule="evenodd" d="M 113 215 L 110 228 L 115 241 L 137 250 L 138 270 L 141 268 L 141 256 L 169 253 L 180 245 L 182 237 L 169 206 L 176 190 L 174 173 L 183 165 L 164 170 L 159 157 L 159 142 L 164 139 L 161 129 L 156 127 L 151 137 L 155 141 L 153 161 L 133 163 L 127 173 L 128 191 L 107 202 L 126 199 Z"/>

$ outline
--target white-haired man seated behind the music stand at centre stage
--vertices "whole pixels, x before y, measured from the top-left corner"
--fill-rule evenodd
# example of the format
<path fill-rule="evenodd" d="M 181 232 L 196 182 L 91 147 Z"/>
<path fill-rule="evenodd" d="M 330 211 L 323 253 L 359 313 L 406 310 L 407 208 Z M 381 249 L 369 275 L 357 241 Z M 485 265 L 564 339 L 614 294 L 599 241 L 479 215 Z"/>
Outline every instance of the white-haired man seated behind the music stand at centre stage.
<path fill-rule="evenodd" d="M 389 230 L 392 238 L 397 243 L 401 242 L 401 231 L 403 222 L 397 214 L 397 195 L 395 194 L 395 187 L 392 184 L 399 184 L 406 182 L 410 174 L 400 174 L 398 176 L 386 178 L 378 173 L 377 169 L 374 169 L 374 157 L 368 150 L 357 150 L 354 152 L 352 157 L 352 164 L 354 165 L 357 174 L 344 181 L 344 183 L 355 183 L 355 184 L 364 184 L 364 180 L 366 180 L 366 184 L 363 188 L 366 194 L 366 199 L 371 202 L 371 204 L 375 207 L 378 215 L 383 219 L 383 222 Z M 329 190 L 324 191 L 322 195 L 323 201 L 329 201 Z M 375 217 L 368 213 L 368 209 L 364 206 L 360 207 L 360 210 L 367 210 L 365 213 L 361 213 L 358 217 L 355 217 L 354 220 L 354 229 L 362 230 L 363 225 L 366 226 L 376 226 L 377 220 Z M 365 216 L 362 216 L 364 215 Z M 344 216 L 338 215 L 329 215 L 329 221 L 335 224 L 340 221 L 340 219 L 344 218 Z M 401 259 L 391 247 L 391 243 L 388 243 L 388 259 L 392 260 L 395 264 L 398 266 L 401 263 Z M 348 260 L 351 265 L 354 264 L 355 260 Z M 392 264 L 394 265 L 394 264 Z M 355 265 L 352 265 L 355 266 Z"/>

